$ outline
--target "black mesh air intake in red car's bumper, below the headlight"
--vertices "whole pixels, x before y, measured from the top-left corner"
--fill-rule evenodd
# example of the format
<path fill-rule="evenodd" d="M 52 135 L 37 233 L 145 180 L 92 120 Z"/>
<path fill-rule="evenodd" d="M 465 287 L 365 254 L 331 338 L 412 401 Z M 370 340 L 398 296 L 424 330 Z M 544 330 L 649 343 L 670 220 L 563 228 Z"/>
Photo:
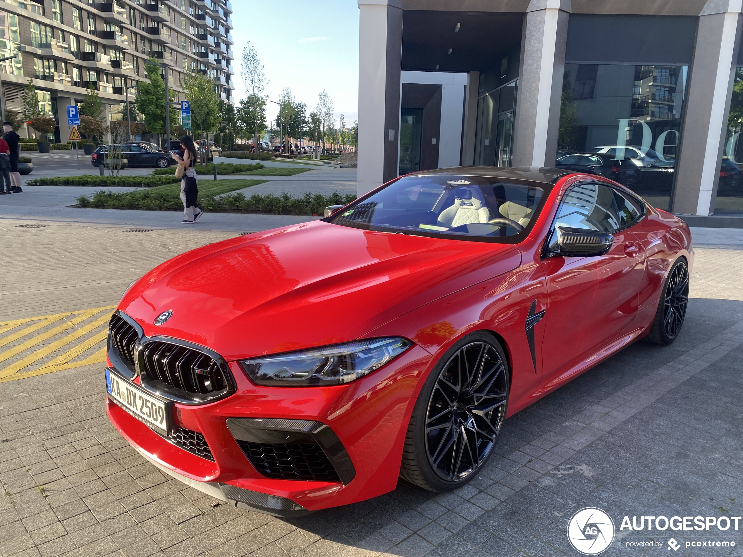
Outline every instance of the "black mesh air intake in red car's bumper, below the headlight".
<path fill-rule="evenodd" d="M 317 443 L 248 443 L 238 441 L 256 470 L 268 478 L 340 481 Z"/>

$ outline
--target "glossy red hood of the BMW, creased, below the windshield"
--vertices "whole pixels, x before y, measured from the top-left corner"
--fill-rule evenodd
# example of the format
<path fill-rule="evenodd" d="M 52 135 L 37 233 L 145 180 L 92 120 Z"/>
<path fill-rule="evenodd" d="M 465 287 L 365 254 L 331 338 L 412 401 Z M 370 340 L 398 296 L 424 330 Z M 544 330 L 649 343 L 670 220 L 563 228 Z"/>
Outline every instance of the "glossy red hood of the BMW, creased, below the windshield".
<path fill-rule="evenodd" d="M 512 244 L 314 221 L 179 255 L 136 281 L 119 309 L 147 336 L 195 342 L 234 360 L 360 338 L 520 263 Z M 166 310 L 172 317 L 153 325 Z"/>

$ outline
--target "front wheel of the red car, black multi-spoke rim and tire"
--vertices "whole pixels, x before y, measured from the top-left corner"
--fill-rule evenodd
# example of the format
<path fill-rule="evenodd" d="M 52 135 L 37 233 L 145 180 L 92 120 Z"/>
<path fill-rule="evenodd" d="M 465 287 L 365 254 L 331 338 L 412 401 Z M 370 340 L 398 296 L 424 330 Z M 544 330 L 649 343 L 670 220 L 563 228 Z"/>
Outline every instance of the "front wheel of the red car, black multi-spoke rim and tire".
<path fill-rule="evenodd" d="M 453 345 L 418 395 L 400 477 L 435 492 L 476 478 L 498 442 L 509 386 L 507 359 L 493 335 L 472 333 Z"/>

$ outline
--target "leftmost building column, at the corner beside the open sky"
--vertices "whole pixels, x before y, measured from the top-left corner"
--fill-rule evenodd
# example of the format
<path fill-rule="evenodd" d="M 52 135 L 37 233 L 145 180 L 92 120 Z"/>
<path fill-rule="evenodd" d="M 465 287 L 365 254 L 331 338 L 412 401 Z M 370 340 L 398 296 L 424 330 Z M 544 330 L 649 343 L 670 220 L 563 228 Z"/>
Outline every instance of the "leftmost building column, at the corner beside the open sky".
<path fill-rule="evenodd" d="M 401 0 L 358 0 L 359 162 L 358 195 L 398 175 Z"/>

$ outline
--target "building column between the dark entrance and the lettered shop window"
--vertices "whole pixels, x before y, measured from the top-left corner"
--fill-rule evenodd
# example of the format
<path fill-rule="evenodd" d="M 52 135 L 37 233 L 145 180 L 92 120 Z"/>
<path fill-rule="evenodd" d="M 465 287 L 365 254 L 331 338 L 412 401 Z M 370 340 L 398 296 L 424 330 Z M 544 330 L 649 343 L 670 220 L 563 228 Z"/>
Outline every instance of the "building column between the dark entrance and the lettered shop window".
<path fill-rule="evenodd" d="M 570 0 L 531 0 L 524 18 L 513 166 L 554 166 Z"/>

